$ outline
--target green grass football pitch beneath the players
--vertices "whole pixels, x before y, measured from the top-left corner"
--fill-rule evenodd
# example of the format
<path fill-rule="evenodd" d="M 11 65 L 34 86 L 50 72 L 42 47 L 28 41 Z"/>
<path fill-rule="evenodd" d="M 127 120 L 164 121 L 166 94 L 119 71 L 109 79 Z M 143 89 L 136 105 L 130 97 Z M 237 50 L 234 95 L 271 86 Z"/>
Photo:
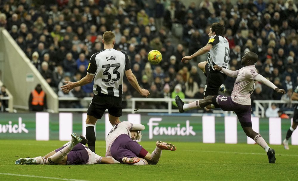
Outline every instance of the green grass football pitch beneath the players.
<path fill-rule="evenodd" d="M 177 150 L 164 150 L 157 165 L 15 165 L 18 158 L 46 155 L 64 143 L 0 140 L 0 180 L 297 180 L 298 146 L 282 145 L 271 146 L 274 164 L 258 145 L 173 142 Z M 155 142 L 140 144 L 150 153 L 155 148 Z M 105 142 L 96 145 L 104 156 Z"/>

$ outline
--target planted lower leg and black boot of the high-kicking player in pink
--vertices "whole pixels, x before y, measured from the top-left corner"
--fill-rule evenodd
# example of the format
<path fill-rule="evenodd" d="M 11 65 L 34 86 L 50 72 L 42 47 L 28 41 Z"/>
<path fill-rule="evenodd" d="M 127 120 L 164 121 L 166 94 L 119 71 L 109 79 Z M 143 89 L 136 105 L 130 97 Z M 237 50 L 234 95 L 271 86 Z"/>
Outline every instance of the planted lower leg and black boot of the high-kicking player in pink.
<path fill-rule="evenodd" d="M 255 132 L 252 127 L 242 127 L 246 136 L 252 138 L 258 145 L 260 145 L 267 153 L 269 163 L 275 163 L 275 150 L 270 148 L 264 138 L 257 132 Z"/>

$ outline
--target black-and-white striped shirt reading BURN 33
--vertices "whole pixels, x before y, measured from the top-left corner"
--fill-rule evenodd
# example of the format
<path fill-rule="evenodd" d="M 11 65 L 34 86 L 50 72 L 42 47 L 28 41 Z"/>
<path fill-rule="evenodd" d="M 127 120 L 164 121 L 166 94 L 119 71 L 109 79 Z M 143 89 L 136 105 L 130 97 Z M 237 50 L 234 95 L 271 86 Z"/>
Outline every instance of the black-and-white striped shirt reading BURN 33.
<path fill-rule="evenodd" d="M 125 52 L 105 49 L 93 54 L 87 72 L 94 75 L 93 93 L 115 97 L 122 96 L 124 72 L 131 69 Z"/>

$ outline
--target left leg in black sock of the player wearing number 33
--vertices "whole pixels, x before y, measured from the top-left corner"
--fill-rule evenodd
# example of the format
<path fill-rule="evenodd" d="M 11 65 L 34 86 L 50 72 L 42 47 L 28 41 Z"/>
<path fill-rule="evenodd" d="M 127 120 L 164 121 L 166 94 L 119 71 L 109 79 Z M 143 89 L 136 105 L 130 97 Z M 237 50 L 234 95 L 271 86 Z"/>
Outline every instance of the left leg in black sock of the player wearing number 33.
<path fill-rule="evenodd" d="M 95 127 L 96 121 L 97 121 L 97 118 L 95 118 L 94 116 L 87 115 L 86 139 L 88 141 L 87 144 L 88 144 L 89 149 L 91 149 L 91 151 L 94 153 L 95 153 L 95 141 L 96 141 L 94 127 Z"/>

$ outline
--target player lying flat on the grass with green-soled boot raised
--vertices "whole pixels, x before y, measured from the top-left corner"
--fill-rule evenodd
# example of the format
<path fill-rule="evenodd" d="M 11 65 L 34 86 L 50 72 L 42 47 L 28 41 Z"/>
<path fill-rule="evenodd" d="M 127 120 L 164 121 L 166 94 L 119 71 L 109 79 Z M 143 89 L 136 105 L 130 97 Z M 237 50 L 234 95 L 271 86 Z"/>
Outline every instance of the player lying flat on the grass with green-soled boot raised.
<path fill-rule="evenodd" d="M 72 141 L 58 148 L 44 157 L 20 158 L 15 161 L 17 165 L 48 164 L 48 165 L 83 165 L 83 164 L 114 164 L 112 158 L 101 157 L 92 152 L 85 144 L 83 136 L 71 134 Z M 135 163 L 138 159 L 123 158 L 124 163 Z"/>

